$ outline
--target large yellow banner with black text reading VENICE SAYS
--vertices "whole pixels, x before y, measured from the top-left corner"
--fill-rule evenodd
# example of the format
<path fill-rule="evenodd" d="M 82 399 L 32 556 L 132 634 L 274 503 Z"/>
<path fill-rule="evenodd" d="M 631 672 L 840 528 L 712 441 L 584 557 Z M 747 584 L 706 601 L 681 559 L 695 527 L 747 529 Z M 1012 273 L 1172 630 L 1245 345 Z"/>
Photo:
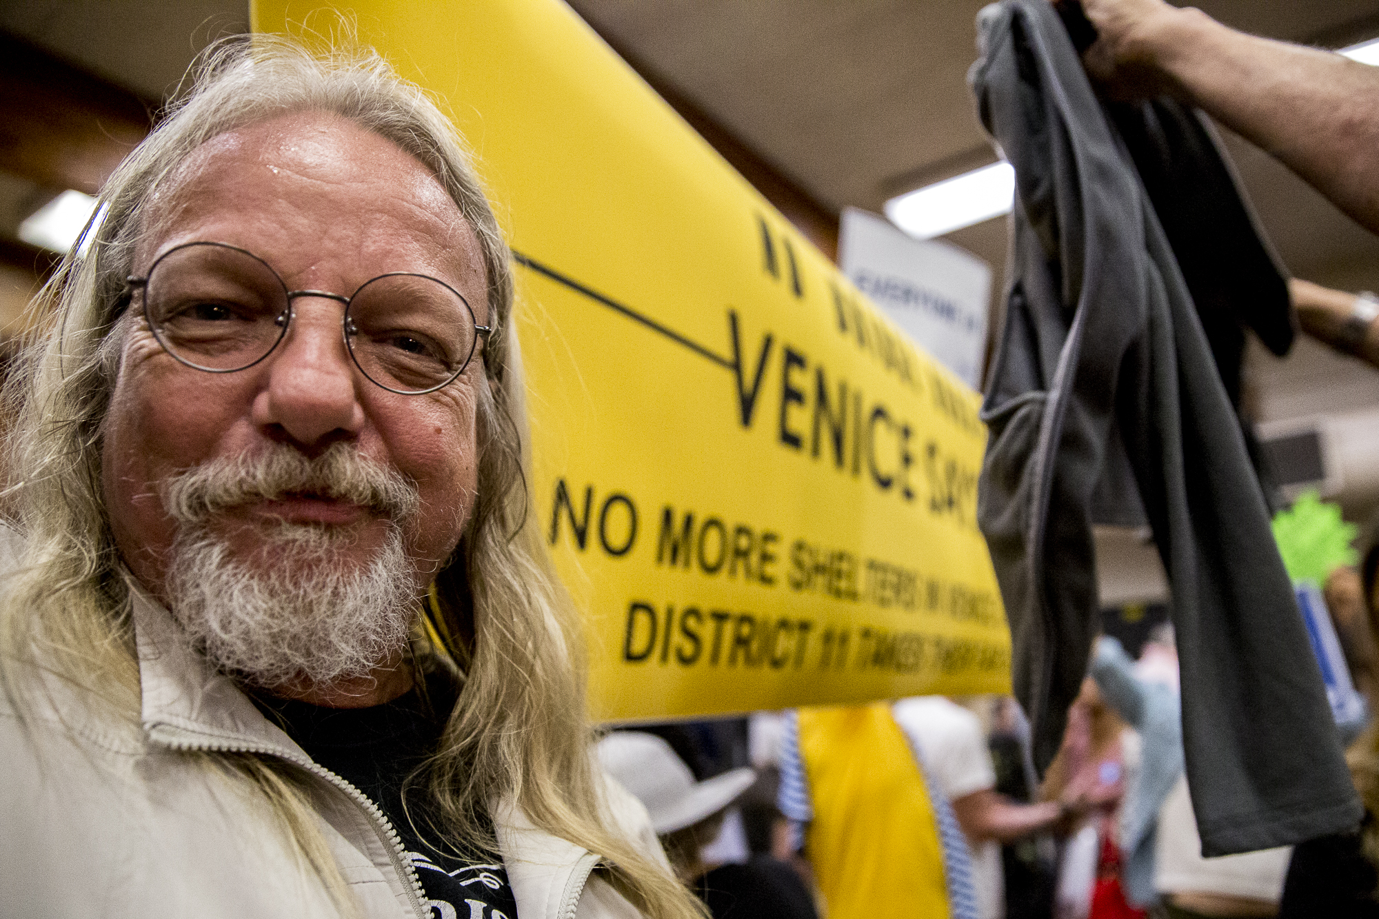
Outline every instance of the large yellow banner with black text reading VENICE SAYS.
<path fill-rule="evenodd" d="M 509 233 L 594 718 L 1008 691 L 976 395 L 564 4 L 342 8 L 440 97 Z"/>

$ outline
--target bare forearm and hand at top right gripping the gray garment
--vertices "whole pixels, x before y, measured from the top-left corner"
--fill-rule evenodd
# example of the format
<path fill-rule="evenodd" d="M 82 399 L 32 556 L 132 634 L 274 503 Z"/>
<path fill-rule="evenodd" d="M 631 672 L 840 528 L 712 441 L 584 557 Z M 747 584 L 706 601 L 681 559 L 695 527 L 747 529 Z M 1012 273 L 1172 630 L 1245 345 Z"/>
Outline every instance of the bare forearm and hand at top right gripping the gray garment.
<path fill-rule="evenodd" d="M 1379 68 L 1236 32 L 1162 0 L 1084 0 L 1083 61 L 1118 98 L 1171 92 L 1379 232 Z"/>

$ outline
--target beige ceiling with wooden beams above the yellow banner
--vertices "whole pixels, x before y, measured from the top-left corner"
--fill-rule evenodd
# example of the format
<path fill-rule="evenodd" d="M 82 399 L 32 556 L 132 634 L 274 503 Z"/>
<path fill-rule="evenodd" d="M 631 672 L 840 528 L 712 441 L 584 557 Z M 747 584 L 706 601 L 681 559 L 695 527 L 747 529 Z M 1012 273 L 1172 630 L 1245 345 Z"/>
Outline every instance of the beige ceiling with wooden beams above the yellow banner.
<path fill-rule="evenodd" d="M 965 84 L 979 0 L 571 1 L 652 83 L 673 87 L 825 210 L 880 211 L 894 195 L 993 160 Z M 1197 6 L 1325 47 L 1379 34 L 1379 0 Z M 150 101 L 175 90 L 203 46 L 247 28 L 244 0 L 0 0 L 0 29 Z M 1379 237 L 1269 156 L 1229 144 L 1294 273 L 1379 288 Z M 949 239 L 997 269 L 1004 261 L 1001 219 Z M 1358 374 L 1356 399 L 1379 402 L 1379 374 L 1339 366 Z"/>

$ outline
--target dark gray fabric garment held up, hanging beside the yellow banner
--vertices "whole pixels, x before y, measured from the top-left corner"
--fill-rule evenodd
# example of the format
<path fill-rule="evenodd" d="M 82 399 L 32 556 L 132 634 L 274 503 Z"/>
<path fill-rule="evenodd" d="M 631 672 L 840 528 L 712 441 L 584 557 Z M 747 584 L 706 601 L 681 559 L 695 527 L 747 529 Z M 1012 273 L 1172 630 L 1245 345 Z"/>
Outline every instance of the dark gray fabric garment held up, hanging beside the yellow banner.
<path fill-rule="evenodd" d="M 1172 588 L 1204 853 L 1353 825 L 1361 809 L 1241 426 L 1131 157 L 1047 0 L 1003 0 L 979 30 L 971 81 L 1015 166 L 1016 207 L 978 516 L 1036 763 L 1056 753 L 1087 673 L 1094 498 L 1120 455 Z"/>

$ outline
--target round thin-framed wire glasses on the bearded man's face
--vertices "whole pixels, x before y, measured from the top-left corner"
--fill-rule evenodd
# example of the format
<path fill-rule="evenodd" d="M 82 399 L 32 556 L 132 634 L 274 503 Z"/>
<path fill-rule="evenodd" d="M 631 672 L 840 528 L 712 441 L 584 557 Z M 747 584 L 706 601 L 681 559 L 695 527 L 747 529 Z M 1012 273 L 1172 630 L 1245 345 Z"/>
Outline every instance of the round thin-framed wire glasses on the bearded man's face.
<path fill-rule="evenodd" d="M 183 243 L 159 257 L 143 277 L 143 316 L 163 349 L 197 370 L 228 374 L 259 363 L 292 322 L 292 301 L 324 297 L 345 304 L 341 334 L 371 382 L 403 395 L 434 392 L 465 373 L 480 335 L 459 291 L 443 280 L 390 272 L 349 297 L 288 290 L 268 262 L 226 243 Z"/>

